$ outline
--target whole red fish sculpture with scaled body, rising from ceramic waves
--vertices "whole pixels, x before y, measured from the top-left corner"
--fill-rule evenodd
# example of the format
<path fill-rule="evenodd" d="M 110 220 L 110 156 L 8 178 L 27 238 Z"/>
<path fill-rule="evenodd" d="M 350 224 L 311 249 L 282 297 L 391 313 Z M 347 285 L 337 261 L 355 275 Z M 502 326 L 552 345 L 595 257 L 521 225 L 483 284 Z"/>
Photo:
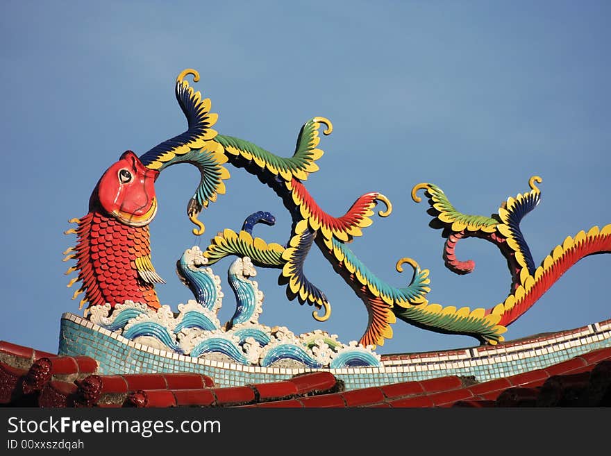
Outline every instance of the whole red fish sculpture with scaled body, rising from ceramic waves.
<path fill-rule="evenodd" d="M 68 258 L 76 260 L 81 288 L 81 307 L 127 299 L 160 307 L 153 285 L 163 283 L 151 264 L 149 223 L 157 213 L 155 180 L 159 171 L 148 169 L 137 155 L 126 151 L 97 183 L 89 213 L 78 223 L 78 241 Z M 67 252 L 69 253 L 69 252 Z"/>

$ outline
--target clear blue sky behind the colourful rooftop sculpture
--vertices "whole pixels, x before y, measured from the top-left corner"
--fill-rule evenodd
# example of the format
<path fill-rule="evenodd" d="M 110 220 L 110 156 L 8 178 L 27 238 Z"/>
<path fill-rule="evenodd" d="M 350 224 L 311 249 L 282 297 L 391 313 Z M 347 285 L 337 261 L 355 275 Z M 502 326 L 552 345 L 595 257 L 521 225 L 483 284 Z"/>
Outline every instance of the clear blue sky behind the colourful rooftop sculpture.
<path fill-rule="evenodd" d="M 462 212 L 489 215 L 541 176 L 542 202 L 521 224 L 537 264 L 567 235 L 611 223 L 610 10 L 604 1 L 3 1 L 0 339 L 57 351 L 61 314 L 80 313 L 63 275 L 71 264 L 62 251 L 74 244 L 62 234 L 67 220 L 86 214 L 123 151 L 140 155 L 185 130 L 174 79 L 188 67 L 200 71 L 195 86 L 210 96 L 219 133 L 278 155 L 292 154 L 311 117 L 333 121 L 307 187 L 335 215 L 366 192 L 392 201 L 393 214 L 351 244 L 380 278 L 404 286 L 410 274 L 394 263 L 410 256 L 430 269 L 430 301 L 496 305 L 510 285 L 503 257 L 467 239 L 458 253 L 476 260 L 474 273 L 445 269 L 440 232 L 410 189 L 435 183 Z M 174 272 L 185 248 L 239 229 L 257 210 L 278 223 L 256 235 L 283 244 L 290 234 L 276 195 L 242 169 L 230 172 L 227 194 L 201 214 L 202 239 L 185 217 L 196 169 L 171 167 L 158 179 L 153 264 L 167 280 L 160 299 L 174 310 L 192 297 Z M 609 261 L 576 264 L 506 337 L 608 319 Z M 229 264 L 215 267 L 226 294 L 221 321 L 235 308 Z M 330 298 L 330 320 L 317 323 L 310 307 L 286 300 L 278 271 L 259 269 L 260 321 L 358 339 L 361 301 L 315 248 L 305 271 Z M 475 344 L 399 321 L 377 351 Z"/>

